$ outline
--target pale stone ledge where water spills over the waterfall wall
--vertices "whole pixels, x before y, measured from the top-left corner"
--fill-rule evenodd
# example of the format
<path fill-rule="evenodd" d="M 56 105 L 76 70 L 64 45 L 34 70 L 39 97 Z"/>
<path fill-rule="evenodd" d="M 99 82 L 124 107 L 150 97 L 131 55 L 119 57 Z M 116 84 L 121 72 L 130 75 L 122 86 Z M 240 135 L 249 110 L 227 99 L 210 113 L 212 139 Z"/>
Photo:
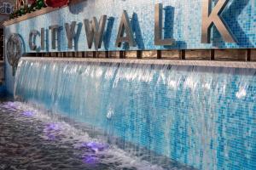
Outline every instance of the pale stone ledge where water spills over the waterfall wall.
<path fill-rule="evenodd" d="M 170 59 L 102 59 L 102 58 L 45 58 L 22 57 L 23 60 L 57 61 L 57 62 L 96 62 L 96 63 L 124 63 L 146 65 L 189 65 L 226 68 L 256 69 L 256 62 L 243 61 L 208 61 L 208 60 L 170 60 Z"/>

